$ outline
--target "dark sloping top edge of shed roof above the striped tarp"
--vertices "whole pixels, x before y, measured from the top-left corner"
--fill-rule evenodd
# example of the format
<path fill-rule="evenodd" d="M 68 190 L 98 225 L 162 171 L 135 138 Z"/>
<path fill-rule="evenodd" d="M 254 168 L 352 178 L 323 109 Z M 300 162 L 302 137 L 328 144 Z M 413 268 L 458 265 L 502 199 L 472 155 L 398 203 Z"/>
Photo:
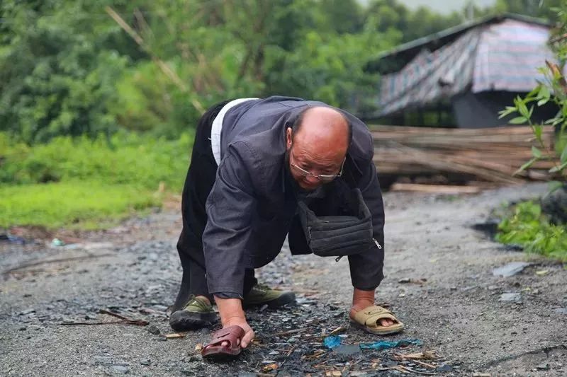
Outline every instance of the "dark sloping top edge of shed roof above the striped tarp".
<path fill-rule="evenodd" d="M 392 50 L 382 52 L 366 64 L 365 70 L 373 73 L 378 72 L 380 74 L 391 74 L 395 71 L 399 71 L 401 67 L 405 66 L 405 64 L 408 64 L 408 62 L 414 59 L 423 49 L 427 49 L 429 51 L 437 50 L 439 47 L 453 42 L 456 38 L 472 28 L 476 28 L 479 25 L 500 23 L 506 19 L 551 28 L 551 23 L 549 21 L 521 14 L 503 13 L 495 16 L 486 16 L 475 21 L 467 21 L 461 25 L 456 25 L 452 28 L 421 37 L 417 40 L 412 40 L 404 43 L 403 45 L 399 45 Z"/>

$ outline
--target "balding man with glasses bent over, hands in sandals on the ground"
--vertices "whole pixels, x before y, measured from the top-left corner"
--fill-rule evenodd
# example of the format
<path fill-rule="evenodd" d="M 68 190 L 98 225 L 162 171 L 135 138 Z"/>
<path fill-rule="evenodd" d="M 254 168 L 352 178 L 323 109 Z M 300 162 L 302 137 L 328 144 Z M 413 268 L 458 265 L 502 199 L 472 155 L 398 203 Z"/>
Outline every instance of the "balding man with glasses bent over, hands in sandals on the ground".
<path fill-rule="evenodd" d="M 358 249 L 348 255 L 350 317 L 370 332 L 400 331 L 400 321 L 374 306 L 383 278 L 384 214 L 373 155 L 366 125 L 325 103 L 274 96 L 210 108 L 196 129 L 183 191 L 177 248 L 184 273 L 172 327 L 213 323 L 214 300 L 225 331 L 213 337 L 211 352 L 236 354 L 247 347 L 254 332 L 243 307 L 295 301 L 292 292 L 259 286 L 254 268 L 274 260 L 286 236 L 292 254 L 315 251 L 305 211 L 336 215 L 355 190 L 369 211 L 374 242 L 358 247 L 354 240 Z"/>

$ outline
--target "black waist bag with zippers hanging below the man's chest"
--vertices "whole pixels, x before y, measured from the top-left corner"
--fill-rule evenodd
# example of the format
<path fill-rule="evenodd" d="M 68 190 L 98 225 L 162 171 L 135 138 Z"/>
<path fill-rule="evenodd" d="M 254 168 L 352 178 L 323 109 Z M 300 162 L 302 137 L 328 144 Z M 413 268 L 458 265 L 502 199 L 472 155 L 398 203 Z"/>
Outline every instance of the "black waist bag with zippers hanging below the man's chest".
<path fill-rule="evenodd" d="M 372 217 L 359 189 L 347 197 L 347 214 L 316 216 L 307 204 L 298 202 L 301 226 L 310 250 L 320 257 L 340 257 L 364 253 L 375 246 Z"/>

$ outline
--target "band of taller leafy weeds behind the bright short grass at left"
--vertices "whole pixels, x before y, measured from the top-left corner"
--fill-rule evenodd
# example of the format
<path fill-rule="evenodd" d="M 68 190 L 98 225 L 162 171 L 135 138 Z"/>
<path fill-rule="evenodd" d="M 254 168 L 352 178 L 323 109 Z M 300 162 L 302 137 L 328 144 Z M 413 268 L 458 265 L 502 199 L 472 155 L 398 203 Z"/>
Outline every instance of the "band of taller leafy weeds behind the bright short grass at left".
<path fill-rule="evenodd" d="M 191 143 L 190 134 L 166 140 L 120 132 L 111 139 L 56 137 L 30 147 L 13 144 L 0 133 L 0 182 L 23 185 L 96 179 L 149 190 L 157 190 L 159 182 L 164 182 L 180 191 Z"/>

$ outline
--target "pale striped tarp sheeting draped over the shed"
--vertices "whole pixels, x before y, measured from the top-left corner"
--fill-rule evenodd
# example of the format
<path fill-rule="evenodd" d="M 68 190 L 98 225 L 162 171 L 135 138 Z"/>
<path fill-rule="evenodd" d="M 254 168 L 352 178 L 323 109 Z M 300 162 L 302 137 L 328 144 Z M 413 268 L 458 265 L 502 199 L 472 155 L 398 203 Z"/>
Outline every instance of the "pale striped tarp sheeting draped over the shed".
<path fill-rule="evenodd" d="M 548 23 L 532 18 L 493 17 L 442 34 L 442 45 L 428 37 L 398 47 L 381 58 L 402 61 L 393 73 L 381 75 L 377 115 L 424 108 L 469 92 L 529 92 L 544 80 L 538 68 L 555 59 L 547 45 L 549 33 Z"/>

